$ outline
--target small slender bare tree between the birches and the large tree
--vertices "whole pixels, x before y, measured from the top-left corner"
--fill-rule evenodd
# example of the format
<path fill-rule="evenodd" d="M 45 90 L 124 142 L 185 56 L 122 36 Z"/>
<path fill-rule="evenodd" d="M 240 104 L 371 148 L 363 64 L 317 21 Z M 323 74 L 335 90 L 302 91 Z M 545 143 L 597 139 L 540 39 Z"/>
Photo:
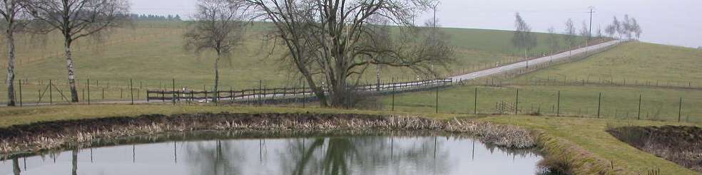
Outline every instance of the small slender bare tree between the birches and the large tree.
<path fill-rule="evenodd" d="M 198 0 L 195 23 L 185 33 L 185 48 L 201 53 L 215 51 L 215 85 L 218 92 L 220 59 L 229 55 L 244 41 L 245 6 L 228 0 Z M 215 99 L 215 102 L 218 99 Z"/>

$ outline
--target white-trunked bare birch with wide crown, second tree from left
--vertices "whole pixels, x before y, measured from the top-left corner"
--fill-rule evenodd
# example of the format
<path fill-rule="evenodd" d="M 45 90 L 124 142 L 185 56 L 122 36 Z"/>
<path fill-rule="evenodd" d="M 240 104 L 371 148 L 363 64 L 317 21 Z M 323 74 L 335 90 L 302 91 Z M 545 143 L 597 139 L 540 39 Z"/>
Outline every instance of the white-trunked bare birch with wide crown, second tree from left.
<path fill-rule="evenodd" d="M 71 44 L 86 36 L 99 36 L 128 20 L 126 0 L 26 0 L 26 8 L 36 21 L 63 36 L 71 102 L 78 102 Z"/>

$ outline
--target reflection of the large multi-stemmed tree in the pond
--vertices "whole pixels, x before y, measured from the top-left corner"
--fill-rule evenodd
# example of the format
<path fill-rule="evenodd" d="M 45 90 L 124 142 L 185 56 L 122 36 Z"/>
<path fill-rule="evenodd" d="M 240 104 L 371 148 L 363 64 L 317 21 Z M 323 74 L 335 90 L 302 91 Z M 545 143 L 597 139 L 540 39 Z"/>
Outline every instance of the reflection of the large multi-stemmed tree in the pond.
<path fill-rule="evenodd" d="M 412 174 L 447 171 L 448 152 L 434 137 L 411 138 L 398 145 L 392 137 L 331 137 L 288 141 L 280 164 L 290 174 Z M 407 139 L 407 138 L 405 138 Z M 437 152 L 434 152 L 434 148 Z M 292 165 L 291 162 L 296 162 Z M 409 167 L 409 169 L 408 169 Z M 352 172 L 353 171 L 353 172 Z"/>

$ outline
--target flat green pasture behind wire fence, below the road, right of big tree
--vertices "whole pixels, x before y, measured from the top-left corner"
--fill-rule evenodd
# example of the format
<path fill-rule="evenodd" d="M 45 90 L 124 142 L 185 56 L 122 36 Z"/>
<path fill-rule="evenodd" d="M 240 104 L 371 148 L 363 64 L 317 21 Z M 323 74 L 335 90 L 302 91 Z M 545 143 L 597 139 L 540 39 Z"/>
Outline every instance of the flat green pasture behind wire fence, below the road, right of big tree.
<path fill-rule="evenodd" d="M 513 86 L 504 88 L 458 86 L 439 91 L 439 112 L 472 114 L 514 114 L 519 90 L 519 114 L 564 115 L 578 117 L 600 116 L 611 119 L 639 118 L 641 120 L 702 122 L 701 90 L 663 88 L 616 88 L 598 86 Z M 560 91 L 560 107 L 559 96 Z M 601 103 L 599 93 L 602 93 Z M 679 107 L 680 98 L 683 106 Z M 392 96 L 381 99 L 385 110 L 392 109 Z M 504 104 L 504 105 L 500 105 Z M 558 109 L 560 108 L 560 110 Z M 435 112 L 436 92 L 414 92 L 395 95 L 395 110 L 407 112 Z M 678 111 L 680 110 L 680 111 Z M 557 113 L 557 114 L 556 114 Z"/>

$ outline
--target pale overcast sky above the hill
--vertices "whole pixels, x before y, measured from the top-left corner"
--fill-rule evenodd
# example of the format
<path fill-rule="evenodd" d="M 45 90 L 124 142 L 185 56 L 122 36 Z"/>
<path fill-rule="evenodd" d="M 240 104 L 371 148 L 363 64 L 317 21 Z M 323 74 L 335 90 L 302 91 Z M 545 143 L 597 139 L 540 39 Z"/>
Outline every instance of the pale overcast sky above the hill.
<path fill-rule="evenodd" d="M 190 16 L 195 0 L 129 0 L 135 14 Z M 612 16 L 629 14 L 644 29 L 642 41 L 676 46 L 702 46 L 701 0 L 442 0 L 437 17 L 446 27 L 513 30 L 519 12 L 534 31 L 554 26 L 564 31 L 568 18 L 581 28 L 589 20 L 588 6 L 595 7 L 593 31 L 605 28 Z M 425 18 L 431 18 L 431 12 Z M 424 19 L 420 19 L 424 21 Z M 417 21 L 421 23 L 422 21 Z"/>

